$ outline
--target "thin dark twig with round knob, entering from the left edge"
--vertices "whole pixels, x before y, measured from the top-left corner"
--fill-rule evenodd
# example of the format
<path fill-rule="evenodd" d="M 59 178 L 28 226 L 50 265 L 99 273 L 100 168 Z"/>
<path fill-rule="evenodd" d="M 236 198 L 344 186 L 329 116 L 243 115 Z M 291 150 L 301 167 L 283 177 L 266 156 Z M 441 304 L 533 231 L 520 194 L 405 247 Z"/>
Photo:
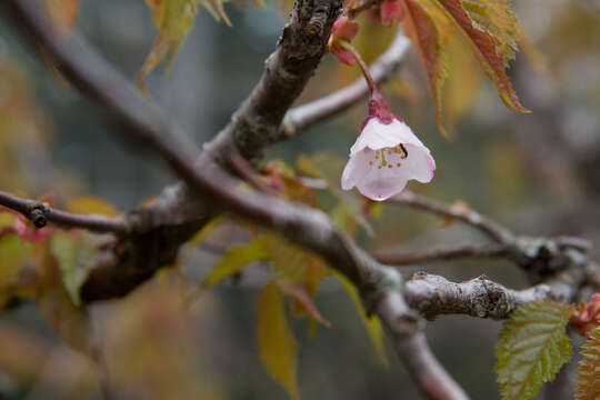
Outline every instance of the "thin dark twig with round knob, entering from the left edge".
<path fill-rule="evenodd" d="M 48 204 L 29 199 L 21 199 L 0 191 L 0 206 L 22 213 L 37 228 L 43 228 L 48 221 L 63 228 L 82 228 L 94 232 L 112 232 L 126 236 L 131 231 L 130 223 L 121 218 L 103 216 L 84 216 L 50 208 Z"/>

